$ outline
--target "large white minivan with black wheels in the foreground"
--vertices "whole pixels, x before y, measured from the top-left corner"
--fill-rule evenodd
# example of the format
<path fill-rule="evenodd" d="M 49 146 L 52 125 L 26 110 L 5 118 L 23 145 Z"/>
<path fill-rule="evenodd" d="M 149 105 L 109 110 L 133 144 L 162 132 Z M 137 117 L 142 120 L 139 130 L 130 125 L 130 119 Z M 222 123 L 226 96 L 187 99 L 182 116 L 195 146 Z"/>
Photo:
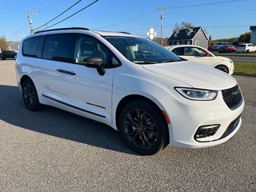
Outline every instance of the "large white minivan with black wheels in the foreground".
<path fill-rule="evenodd" d="M 215 146 L 242 123 L 234 78 L 132 34 L 41 31 L 22 40 L 15 67 L 29 110 L 49 105 L 105 123 L 140 154 Z"/>

